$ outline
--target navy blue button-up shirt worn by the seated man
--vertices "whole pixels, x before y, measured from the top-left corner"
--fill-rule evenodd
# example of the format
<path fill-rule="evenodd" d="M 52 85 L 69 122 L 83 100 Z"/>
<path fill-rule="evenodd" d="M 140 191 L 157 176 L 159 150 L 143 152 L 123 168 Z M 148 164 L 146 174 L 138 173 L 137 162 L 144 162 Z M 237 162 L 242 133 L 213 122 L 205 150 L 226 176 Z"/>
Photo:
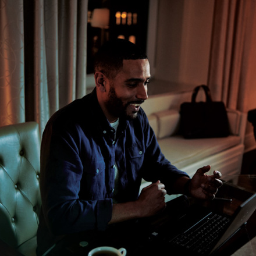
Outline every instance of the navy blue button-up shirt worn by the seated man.
<path fill-rule="evenodd" d="M 95 90 L 49 120 L 41 144 L 38 243 L 46 233 L 106 228 L 112 214 L 115 160 L 120 202 L 138 198 L 142 178 L 161 180 L 170 193 L 177 177 L 186 175 L 163 156 L 143 109 L 134 120 L 120 118 L 113 144 L 114 138 Z"/>

